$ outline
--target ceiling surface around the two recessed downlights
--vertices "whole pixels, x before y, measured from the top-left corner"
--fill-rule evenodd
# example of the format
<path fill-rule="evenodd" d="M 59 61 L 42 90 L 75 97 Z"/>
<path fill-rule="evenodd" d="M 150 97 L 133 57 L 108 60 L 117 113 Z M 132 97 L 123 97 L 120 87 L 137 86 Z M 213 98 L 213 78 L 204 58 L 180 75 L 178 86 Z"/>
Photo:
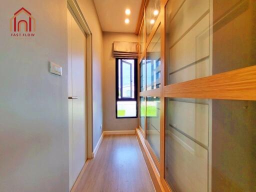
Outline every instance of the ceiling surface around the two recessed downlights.
<path fill-rule="evenodd" d="M 141 0 L 93 0 L 101 29 L 111 32 L 135 32 Z M 130 15 L 124 11 L 129 8 Z M 128 24 L 124 19 L 129 18 Z"/>

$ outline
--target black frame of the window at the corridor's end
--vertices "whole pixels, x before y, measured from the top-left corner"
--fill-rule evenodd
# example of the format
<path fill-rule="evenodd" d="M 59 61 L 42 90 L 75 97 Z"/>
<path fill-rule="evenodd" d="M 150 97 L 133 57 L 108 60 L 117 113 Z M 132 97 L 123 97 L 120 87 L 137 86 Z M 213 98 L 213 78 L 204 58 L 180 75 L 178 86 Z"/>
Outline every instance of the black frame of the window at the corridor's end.
<path fill-rule="evenodd" d="M 120 70 L 120 85 L 121 85 L 121 98 L 119 98 L 118 91 L 119 91 L 119 67 L 118 67 L 118 60 L 119 59 L 132 59 L 134 60 L 134 98 L 132 97 L 132 93 L 130 92 L 131 97 L 122 97 L 122 71 Z M 121 66 L 122 67 L 122 64 Z M 137 59 L 136 58 L 115 58 L 115 118 L 137 118 L 138 116 L 138 101 L 137 101 Z M 136 116 L 117 116 L 117 101 L 136 101 Z"/>

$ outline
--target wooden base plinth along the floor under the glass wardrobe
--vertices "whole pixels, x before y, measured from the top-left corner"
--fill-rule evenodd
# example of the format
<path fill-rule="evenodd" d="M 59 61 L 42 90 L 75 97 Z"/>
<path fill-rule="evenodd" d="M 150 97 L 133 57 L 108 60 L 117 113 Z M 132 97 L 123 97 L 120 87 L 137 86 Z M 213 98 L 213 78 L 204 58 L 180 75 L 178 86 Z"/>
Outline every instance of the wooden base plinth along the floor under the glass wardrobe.
<path fill-rule="evenodd" d="M 142 154 L 144 156 L 149 174 L 151 176 L 155 191 L 156 192 L 165 191 L 161 184 L 161 181 L 160 181 L 160 175 L 159 175 L 158 169 L 155 166 L 154 161 L 150 155 L 150 152 L 148 151 L 148 149 L 145 145 L 144 137 L 138 128 L 136 128 L 136 136 L 137 136 L 137 140 L 138 140 L 139 146 L 141 148 Z"/>

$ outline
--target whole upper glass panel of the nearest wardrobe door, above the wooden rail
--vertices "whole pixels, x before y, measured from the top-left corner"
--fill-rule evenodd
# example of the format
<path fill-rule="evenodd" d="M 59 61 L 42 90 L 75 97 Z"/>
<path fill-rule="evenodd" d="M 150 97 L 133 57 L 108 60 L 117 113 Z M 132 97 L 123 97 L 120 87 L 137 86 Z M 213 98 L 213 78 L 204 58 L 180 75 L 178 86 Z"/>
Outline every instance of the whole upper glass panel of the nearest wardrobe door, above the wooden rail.
<path fill-rule="evenodd" d="M 165 5 L 167 84 L 256 64 L 256 1 L 209 2 L 168 0 Z"/>

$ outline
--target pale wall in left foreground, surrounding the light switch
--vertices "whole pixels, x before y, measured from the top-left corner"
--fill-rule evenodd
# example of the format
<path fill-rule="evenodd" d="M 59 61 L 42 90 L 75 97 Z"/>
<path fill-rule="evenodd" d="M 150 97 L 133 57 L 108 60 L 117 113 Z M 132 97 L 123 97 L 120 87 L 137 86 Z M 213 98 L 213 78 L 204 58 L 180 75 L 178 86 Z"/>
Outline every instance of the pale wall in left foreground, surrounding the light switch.
<path fill-rule="evenodd" d="M 25 7 L 36 36 L 10 36 Z M 66 0 L 2 0 L 0 6 L 0 191 L 68 191 Z M 48 72 L 48 61 L 63 76 Z"/>

